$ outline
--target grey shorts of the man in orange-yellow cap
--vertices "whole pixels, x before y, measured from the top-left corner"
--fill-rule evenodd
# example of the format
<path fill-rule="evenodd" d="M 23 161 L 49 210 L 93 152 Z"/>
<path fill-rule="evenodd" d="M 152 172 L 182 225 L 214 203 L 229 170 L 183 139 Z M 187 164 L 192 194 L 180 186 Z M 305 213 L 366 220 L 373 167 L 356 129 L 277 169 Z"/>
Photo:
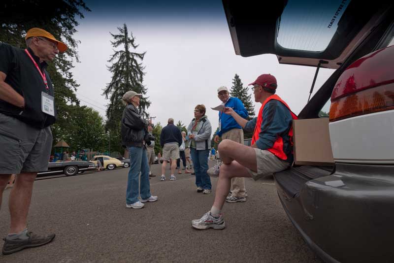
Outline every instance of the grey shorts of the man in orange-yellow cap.
<path fill-rule="evenodd" d="M 36 129 L 0 113 L 0 174 L 48 169 L 52 148 L 49 127 Z"/>

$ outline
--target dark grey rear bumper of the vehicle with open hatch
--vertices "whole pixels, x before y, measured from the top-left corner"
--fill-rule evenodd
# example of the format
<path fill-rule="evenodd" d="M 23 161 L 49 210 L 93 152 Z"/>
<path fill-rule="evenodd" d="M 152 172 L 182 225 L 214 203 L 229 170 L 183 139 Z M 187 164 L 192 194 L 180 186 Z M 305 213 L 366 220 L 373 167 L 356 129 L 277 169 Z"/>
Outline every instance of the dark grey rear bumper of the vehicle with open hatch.
<path fill-rule="evenodd" d="M 336 164 L 328 176 L 289 196 L 276 184 L 289 218 L 326 262 L 389 262 L 394 233 L 394 166 Z"/>

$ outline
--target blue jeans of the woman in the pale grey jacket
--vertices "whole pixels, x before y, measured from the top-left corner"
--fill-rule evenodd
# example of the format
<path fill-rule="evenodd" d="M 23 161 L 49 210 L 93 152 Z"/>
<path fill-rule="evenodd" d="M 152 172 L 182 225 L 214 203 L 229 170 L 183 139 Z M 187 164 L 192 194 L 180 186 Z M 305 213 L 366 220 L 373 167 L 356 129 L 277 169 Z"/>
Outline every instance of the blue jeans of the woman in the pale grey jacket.
<path fill-rule="evenodd" d="M 190 154 L 192 155 L 194 172 L 196 173 L 197 187 L 211 189 L 211 178 L 206 172 L 208 170 L 209 149 L 196 150 L 195 148 L 190 148 Z"/>

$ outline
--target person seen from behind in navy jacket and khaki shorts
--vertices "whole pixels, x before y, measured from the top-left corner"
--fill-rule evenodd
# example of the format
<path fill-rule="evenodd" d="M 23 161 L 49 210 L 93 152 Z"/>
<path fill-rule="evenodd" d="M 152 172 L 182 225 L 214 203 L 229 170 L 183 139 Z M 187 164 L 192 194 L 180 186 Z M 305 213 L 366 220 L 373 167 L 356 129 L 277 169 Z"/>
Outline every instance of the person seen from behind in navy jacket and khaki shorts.
<path fill-rule="evenodd" d="M 179 158 L 179 146 L 182 145 L 182 134 L 181 130 L 174 125 L 174 119 L 169 118 L 167 126 L 162 129 L 160 134 L 160 145 L 163 147 L 163 164 L 162 164 L 162 176 L 161 181 L 165 180 L 165 167 L 167 162 L 171 159 L 171 177 L 170 181 L 175 181 L 174 175 L 176 168 L 176 160 Z"/>

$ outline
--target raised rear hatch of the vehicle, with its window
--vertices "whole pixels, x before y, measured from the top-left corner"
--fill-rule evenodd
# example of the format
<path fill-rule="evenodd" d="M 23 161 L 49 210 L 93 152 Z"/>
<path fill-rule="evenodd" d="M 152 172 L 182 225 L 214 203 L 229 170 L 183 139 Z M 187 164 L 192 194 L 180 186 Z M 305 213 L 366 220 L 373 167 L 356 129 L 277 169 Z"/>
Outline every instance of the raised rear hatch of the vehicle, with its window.
<path fill-rule="evenodd" d="M 390 1 L 223 0 L 235 53 L 338 68 L 385 17 Z"/>

